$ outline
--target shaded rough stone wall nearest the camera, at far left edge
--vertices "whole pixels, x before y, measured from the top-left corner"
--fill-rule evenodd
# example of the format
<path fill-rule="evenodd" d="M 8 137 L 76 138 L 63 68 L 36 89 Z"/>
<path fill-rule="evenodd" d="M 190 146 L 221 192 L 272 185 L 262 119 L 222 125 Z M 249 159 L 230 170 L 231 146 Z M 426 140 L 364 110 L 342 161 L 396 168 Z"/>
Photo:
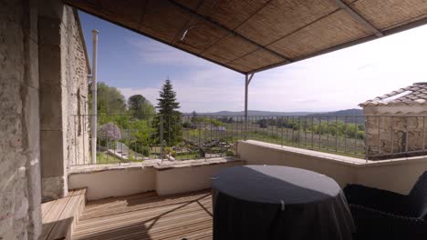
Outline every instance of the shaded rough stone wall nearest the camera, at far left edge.
<path fill-rule="evenodd" d="M 0 0 L 0 5 L 0 239 L 37 239 L 37 7 L 32 0 Z"/>

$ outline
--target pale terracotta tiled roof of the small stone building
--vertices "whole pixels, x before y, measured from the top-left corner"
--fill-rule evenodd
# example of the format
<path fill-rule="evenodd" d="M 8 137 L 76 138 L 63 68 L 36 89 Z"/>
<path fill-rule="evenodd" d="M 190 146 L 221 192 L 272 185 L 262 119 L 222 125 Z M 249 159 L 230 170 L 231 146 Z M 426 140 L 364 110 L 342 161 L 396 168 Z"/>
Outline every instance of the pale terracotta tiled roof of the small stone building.
<path fill-rule="evenodd" d="M 406 95 L 402 93 L 409 92 Z M 397 98 L 393 96 L 400 95 Z M 389 99 L 390 98 L 390 99 Z M 390 94 L 377 96 L 359 106 L 367 105 L 426 105 L 427 104 L 427 82 L 415 83 L 413 85 L 402 87 L 399 90 L 392 91 Z"/>

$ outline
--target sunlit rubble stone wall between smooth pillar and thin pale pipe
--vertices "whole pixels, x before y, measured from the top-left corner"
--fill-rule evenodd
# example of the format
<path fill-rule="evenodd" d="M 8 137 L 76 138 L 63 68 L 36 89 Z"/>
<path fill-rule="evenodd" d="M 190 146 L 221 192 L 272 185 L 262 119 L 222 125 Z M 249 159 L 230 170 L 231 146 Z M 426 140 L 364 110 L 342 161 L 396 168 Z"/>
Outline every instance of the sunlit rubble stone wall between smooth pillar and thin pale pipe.
<path fill-rule="evenodd" d="M 66 164 L 89 163 L 89 65 L 84 37 L 78 21 L 78 14 L 70 7 L 68 15 L 66 44 L 66 76 L 68 91 L 67 158 Z"/>

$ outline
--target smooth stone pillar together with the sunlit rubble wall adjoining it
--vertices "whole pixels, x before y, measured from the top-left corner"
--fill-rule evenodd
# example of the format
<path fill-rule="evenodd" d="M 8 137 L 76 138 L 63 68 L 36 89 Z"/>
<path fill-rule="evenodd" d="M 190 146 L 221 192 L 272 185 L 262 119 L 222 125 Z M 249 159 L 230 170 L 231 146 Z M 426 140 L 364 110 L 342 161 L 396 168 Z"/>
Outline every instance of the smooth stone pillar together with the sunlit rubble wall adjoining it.
<path fill-rule="evenodd" d="M 67 194 L 68 162 L 89 157 L 88 71 L 78 15 L 43 1 L 39 15 L 40 138 L 43 201 Z"/>

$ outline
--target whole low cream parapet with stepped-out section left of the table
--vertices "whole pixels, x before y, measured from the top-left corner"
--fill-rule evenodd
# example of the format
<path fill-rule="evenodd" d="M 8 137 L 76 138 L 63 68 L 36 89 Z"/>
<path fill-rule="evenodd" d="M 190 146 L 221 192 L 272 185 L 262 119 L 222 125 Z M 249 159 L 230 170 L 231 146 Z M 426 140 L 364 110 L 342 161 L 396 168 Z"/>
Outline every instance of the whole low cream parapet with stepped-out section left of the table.
<path fill-rule="evenodd" d="M 175 162 L 146 160 L 123 165 L 80 165 L 72 167 L 68 187 L 87 187 L 88 200 L 147 191 L 156 191 L 158 195 L 182 194 L 210 188 L 212 175 L 226 167 L 244 164 L 239 159 L 219 157 Z"/>

